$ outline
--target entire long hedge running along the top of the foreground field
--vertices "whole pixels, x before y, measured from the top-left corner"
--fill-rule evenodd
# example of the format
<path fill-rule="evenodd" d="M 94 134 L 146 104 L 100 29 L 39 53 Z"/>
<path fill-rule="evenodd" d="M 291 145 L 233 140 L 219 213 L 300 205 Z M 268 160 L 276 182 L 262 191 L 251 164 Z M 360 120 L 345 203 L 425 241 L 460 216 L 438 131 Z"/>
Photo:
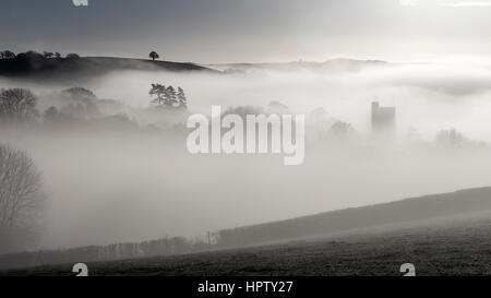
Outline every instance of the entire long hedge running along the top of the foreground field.
<path fill-rule="evenodd" d="M 484 214 L 484 215 L 482 215 Z M 368 230 L 402 230 L 426 223 L 433 228 L 436 222 L 458 222 L 458 218 L 491 222 L 491 188 L 463 190 L 453 193 L 426 195 L 372 206 L 348 208 L 304 216 L 283 222 L 225 229 L 214 245 L 182 246 L 185 239 L 160 239 L 140 243 L 118 243 L 106 247 L 85 247 L 0 255 L 0 269 L 32 267 L 72 262 L 100 262 L 141 259 L 168 254 L 189 254 L 208 250 L 226 250 L 248 246 L 282 243 L 295 239 L 367 235 Z M 451 237 L 448 235 L 447 237 Z M 179 243 L 181 245 L 180 248 Z M 169 248 L 176 250 L 169 250 Z"/>

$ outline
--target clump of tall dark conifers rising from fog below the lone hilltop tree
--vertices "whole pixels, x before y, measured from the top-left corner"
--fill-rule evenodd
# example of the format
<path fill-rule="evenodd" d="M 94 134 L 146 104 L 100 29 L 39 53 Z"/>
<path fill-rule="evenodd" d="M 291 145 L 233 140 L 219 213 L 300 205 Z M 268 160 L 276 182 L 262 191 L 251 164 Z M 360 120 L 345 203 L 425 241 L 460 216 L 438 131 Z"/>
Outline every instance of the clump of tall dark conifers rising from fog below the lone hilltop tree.
<path fill-rule="evenodd" d="M 188 108 L 188 98 L 181 87 L 177 90 L 173 86 L 166 87 L 161 84 L 152 84 L 148 94 L 155 98 L 151 104 L 157 108 L 165 109 L 185 109 Z"/>

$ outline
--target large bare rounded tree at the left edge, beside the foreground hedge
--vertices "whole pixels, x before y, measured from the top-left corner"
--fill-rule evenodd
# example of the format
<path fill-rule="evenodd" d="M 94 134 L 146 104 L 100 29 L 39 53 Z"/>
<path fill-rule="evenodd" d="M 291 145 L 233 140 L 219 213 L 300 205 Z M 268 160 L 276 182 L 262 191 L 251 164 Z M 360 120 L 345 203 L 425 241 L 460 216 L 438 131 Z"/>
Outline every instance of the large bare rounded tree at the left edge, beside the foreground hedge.
<path fill-rule="evenodd" d="M 23 249 L 45 201 L 40 172 L 23 152 L 0 144 L 0 253 Z"/>

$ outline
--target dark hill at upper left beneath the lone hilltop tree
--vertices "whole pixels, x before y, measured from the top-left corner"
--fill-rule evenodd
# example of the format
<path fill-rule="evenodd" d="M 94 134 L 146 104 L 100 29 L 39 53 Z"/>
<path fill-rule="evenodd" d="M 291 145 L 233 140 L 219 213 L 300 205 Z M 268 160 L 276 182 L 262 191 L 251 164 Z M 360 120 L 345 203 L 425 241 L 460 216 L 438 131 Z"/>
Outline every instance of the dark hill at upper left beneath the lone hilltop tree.
<path fill-rule="evenodd" d="M 194 63 L 130 58 L 81 57 L 46 59 L 43 56 L 23 55 L 12 59 L 0 60 L 0 76 L 7 78 L 31 76 L 41 79 L 63 79 L 67 75 L 103 75 L 108 72 L 122 70 L 218 72 Z"/>

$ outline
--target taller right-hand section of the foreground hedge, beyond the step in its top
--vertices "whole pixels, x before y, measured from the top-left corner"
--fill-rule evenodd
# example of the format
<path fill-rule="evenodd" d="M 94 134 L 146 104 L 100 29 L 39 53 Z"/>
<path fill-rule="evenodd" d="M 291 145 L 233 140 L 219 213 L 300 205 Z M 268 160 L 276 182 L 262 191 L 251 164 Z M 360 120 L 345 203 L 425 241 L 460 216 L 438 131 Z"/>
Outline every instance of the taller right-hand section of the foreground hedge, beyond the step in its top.
<path fill-rule="evenodd" d="M 469 189 L 226 229 L 219 239 L 221 246 L 239 247 L 489 210 L 491 188 Z"/>

